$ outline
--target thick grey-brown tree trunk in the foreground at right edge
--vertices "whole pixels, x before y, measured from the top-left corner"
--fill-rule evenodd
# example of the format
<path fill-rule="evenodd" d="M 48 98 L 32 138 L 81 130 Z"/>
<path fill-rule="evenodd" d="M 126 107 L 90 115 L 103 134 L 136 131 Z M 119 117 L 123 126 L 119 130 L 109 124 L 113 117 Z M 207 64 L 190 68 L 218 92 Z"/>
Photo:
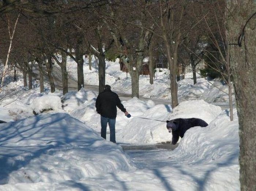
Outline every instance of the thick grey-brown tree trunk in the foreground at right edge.
<path fill-rule="evenodd" d="M 256 1 L 227 2 L 230 65 L 234 78 L 240 137 L 241 191 L 256 190 Z M 254 14 L 254 15 L 253 15 Z M 251 19 L 250 19 L 251 18 Z M 245 26 L 246 24 L 246 26 Z M 244 30 L 241 30 L 244 28 Z M 235 45 L 234 45 L 235 44 Z M 237 45 L 236 45 L 237 44 Z"/>

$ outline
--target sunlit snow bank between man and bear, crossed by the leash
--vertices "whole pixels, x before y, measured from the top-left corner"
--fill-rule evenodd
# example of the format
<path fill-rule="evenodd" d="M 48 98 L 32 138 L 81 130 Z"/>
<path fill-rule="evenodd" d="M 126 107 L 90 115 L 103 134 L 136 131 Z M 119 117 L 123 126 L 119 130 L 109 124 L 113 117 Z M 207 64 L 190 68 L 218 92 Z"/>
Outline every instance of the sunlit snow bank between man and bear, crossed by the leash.
<path fill-rule="evenodd" d="M 144 106 L 138 105 L 138 102 L 144 104 Z M 171 112 L 170 105 L 160 104 L 150 105 L 149 107 L 147 102 L 139 101 L 136 98 L 124 102 L 124 105 L 127 105 L 131 115 L 136 117 L 131 117 L 129 123 L 117 132 L 117 137 L 120 137 L 123 143 L 153 144 L 169 141 L 169 137 L 166 136 L 165 121 Z M 164 122 L 154 120 L 162 120 Z"/>

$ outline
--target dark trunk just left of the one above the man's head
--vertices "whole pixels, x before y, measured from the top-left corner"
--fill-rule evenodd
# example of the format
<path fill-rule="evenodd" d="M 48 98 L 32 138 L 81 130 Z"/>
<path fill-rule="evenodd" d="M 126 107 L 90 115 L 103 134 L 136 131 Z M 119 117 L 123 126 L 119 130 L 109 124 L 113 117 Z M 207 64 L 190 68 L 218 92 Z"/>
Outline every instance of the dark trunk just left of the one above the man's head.
<path fill-rule="evenodd" d="M 78 40 L 76 45 L 75 55 L 77 63 L 77 81 L 78 91 L 84 87 L 84 76 L 83 76 L 83 40 L 82 37 Z"/>

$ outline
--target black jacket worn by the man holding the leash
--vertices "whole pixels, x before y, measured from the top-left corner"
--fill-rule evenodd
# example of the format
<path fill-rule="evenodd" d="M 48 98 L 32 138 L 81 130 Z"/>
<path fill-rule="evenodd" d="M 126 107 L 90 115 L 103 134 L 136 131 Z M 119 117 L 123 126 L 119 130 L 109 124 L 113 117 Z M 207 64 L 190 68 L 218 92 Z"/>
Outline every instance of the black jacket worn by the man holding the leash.
<path fill-rule="evenodd" d="M 126 112 L 123 104 L 116 93 L 111 90 L 104 90 L 99 93 L 96 100 L 96 111 L 103 117 L 116 118 L 116 106 L 122 111 Z"/>

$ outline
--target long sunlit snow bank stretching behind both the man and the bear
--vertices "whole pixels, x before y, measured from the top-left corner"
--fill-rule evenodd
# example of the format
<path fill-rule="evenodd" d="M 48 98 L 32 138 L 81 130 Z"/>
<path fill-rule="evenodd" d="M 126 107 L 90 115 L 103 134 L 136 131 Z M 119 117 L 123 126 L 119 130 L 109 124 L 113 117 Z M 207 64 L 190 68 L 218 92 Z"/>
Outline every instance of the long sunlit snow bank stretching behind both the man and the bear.
<path fill-rule="evenodd" d="M 86 122 L 100 133 L 100 115 L 96 112 L 95 100 L 96 98 L 85 100 L 70 114 L 72 117 Z M 70 102 L 72 101 L 70 100 Z M 181 102 L 173 112 L 170 105 L 155 105 L 151 100 L 142 101 L 136 97 L 123 101 L 122 104 L 132 117 L 127 118 L 123 112 L 117 109 L 116 140 L 118 143 L 155 144 L 167 142 L 172 139 L 172 134 L 166 130 L 166 120 L 196 117 L 209 124 L 222 112 L 219 106 L 208 104 L 203 100 Z M 107 136 L 108 132 L 109 128 L 107 128 Z"/>

